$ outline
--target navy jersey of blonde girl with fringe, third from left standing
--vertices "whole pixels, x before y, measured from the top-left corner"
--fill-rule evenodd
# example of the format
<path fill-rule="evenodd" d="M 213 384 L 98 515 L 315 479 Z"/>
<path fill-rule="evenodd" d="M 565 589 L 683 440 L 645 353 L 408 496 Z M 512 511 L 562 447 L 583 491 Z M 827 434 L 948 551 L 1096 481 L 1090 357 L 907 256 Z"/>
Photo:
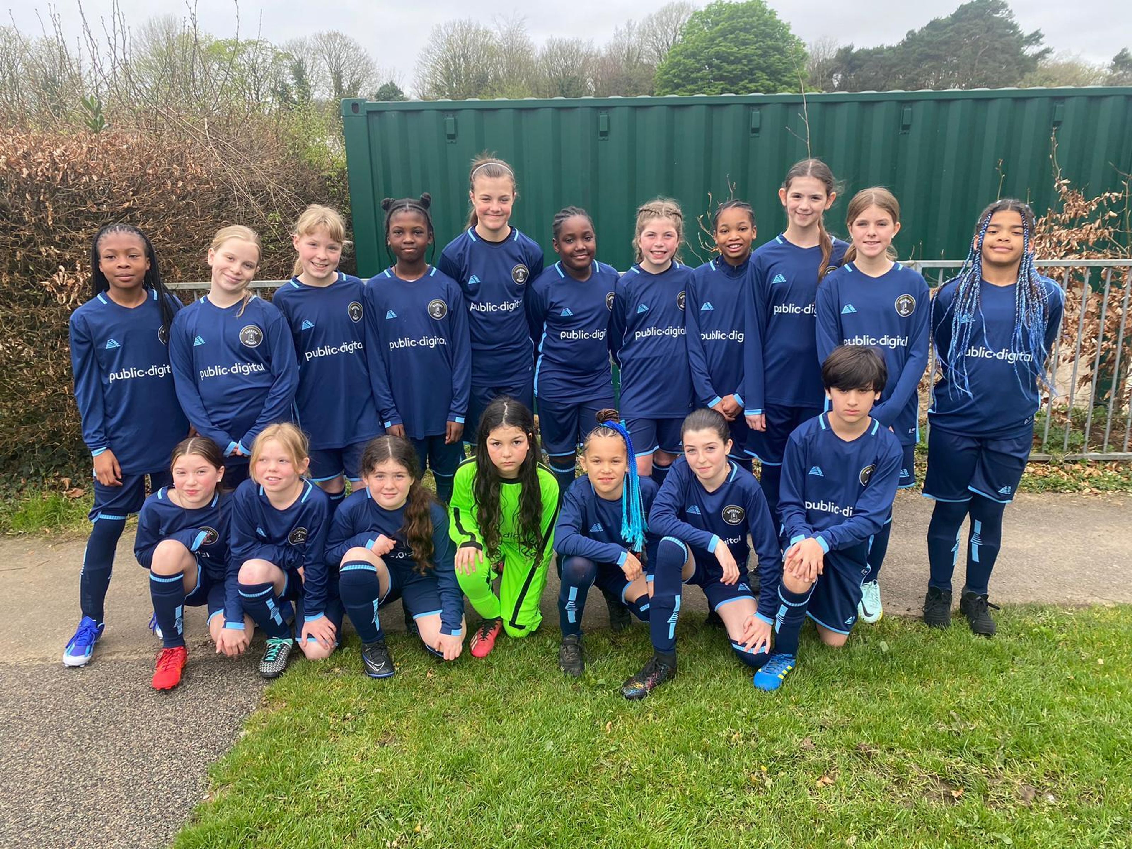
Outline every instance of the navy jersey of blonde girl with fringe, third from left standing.
<path fill-rule="evenodd" d="M 366 361 L 363 289 L 341 272 L 328 286 L 292 277 L 272 300 L 294 338 L 294 419 L 311 448 L 344 448 L 381 432 Z"/>

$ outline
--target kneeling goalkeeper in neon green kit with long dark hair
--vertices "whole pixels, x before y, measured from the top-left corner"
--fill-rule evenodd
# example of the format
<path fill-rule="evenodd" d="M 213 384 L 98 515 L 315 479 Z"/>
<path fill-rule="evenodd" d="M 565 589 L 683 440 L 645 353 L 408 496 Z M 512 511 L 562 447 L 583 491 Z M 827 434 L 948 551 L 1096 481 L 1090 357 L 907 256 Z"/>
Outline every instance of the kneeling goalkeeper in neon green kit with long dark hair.
<path fill-rule="evenodd" d="M 456 470 L 448 506 L 458 546 L 456 580 L 483 617 L 469 644 L 473 658 L 486 658 L 500 631 L 524 637 L 542 623 L 539 599 L 547 585 L 558 483 L 538 457 L 534 417 L 501 396 L 483 411 L 475 456 Z M 491 588 L 496 578 L 498 595 Z"/>

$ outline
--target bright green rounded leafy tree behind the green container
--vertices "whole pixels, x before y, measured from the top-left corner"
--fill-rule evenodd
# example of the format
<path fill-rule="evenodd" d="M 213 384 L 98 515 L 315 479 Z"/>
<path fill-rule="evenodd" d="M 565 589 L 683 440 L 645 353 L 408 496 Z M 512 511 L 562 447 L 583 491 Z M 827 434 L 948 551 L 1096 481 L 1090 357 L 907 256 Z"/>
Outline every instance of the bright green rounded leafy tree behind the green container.
<path fill-rule="evenodd" d="M 763 0 L 717 2 L 688 18 L 657 68 L 657 94 L 797 91 L 806 49 Z"/>

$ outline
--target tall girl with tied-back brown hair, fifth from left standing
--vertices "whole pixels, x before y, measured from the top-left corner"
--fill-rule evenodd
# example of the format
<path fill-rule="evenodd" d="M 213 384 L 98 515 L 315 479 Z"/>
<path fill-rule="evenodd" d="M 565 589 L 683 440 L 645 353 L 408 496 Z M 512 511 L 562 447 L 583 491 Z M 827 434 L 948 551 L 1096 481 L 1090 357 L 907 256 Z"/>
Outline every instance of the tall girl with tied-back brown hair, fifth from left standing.
<path fill-rule="evenodd" d="M 534 406 L 534 348 L 523 301 L 542 274 L 542 248 L 509 224 L 518 197 L 515 172 L 503 160 L 481 156 L 468 175 L 472 212 L 437 264 L 464 293 L 472 341 L 470 436 L 492 398 L 507 395 Z"/>

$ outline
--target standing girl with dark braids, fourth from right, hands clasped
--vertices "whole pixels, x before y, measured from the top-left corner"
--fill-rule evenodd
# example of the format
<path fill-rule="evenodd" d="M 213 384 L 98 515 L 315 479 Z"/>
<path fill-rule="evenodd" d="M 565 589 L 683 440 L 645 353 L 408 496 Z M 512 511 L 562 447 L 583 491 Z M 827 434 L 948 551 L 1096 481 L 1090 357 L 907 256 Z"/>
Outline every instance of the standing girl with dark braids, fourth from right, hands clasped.
<path fill-rule="evenodd" d="M 719 256 L 692 273 L 685 306 L 688 365 L 700 406 L 720 413 L 731 426 L 732 460 L 751 465 L 747 421 L 743 415 L 743 345 L 751 285 L 751 242 L 755 212 L 743 200 L 727 200 L 712 216 Z"/>

